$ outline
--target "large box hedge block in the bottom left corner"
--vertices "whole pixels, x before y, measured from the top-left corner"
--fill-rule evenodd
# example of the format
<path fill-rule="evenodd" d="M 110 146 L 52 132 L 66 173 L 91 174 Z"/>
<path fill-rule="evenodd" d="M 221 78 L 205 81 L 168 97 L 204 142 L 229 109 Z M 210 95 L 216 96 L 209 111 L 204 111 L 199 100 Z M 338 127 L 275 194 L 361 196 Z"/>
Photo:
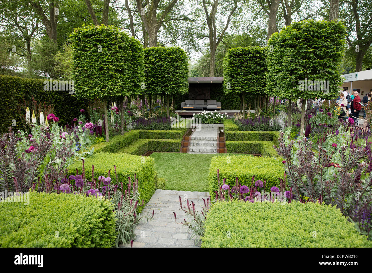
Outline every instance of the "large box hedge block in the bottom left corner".
<path fill-rule="evenodd" d="M 112 247 L 113 204 L 74 194 L 30 192 L 29 205 L 0 202 L 0 247 Z"/>

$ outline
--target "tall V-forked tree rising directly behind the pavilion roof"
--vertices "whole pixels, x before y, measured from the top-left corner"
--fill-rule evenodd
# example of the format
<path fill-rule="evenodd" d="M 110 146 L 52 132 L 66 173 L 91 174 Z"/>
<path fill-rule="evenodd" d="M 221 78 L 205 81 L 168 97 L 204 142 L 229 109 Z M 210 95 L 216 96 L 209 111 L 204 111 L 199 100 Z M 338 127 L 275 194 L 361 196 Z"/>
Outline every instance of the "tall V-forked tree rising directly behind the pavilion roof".
<path fill-rule="evenodd" d="M 238 0 L 227 0 L 221 2 L 219 0 L 202 1 L 209 33 L 209 77 L 214 77 L 215 53 L 217 46 L 225 35 L 230 24 L 231 16 L 238 7 Z"/>

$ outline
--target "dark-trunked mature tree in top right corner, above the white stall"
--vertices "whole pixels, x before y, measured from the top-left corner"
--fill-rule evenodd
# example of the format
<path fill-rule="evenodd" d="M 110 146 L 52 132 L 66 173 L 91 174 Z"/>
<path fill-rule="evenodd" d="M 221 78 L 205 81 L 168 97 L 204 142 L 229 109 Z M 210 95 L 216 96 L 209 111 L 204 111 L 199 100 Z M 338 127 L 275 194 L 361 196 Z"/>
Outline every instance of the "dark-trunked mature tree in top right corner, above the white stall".
<path fill-rule="evenodd" d="M 362 71 L 363 59 L 372 44 L 372 1 L 343 0 L 340 19 L 346 22 L 348 52 L 355 56 L 355 72 Z"/>

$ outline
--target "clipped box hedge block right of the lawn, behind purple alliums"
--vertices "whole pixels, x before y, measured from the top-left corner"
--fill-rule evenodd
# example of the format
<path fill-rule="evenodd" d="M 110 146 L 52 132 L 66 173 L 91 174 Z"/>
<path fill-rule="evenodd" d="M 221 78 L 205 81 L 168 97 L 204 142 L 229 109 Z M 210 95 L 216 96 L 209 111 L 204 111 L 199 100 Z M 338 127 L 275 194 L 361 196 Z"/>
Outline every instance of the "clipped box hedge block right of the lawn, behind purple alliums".
<path fill-rule="evenodd" d="M 272 186 L 279 188 L 279 179 L 284 176 L 283 163 L 273 157 L 253 157 L 247 155 L 214 156 L 208 174 L 208 188 L 215 199 L 214 191 L 217 191 L 217 169 L 219 169 L 220 183 L 226 178 L 226 184 L 230 187 L 235 186 L 235 178 L 241 185 L 250 187 L 252 176 L 255 180 L 266 180 L 266 191 L 270 191 Z"/>

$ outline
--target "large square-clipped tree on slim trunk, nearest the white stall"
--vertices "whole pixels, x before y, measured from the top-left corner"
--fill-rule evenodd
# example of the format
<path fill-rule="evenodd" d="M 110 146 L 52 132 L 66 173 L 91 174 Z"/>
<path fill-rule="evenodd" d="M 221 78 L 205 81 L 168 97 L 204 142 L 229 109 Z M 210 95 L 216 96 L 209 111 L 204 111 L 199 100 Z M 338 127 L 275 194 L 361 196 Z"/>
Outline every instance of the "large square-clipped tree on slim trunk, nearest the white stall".
<path fill-rule="evenodd" d="M 345 27 L 336 21 L 295 22 L 269 40 L 266 90 L 280 98 L 333 99 L 340 92 Z M 325 49 L 332 50 L 325 50 Z M 325 84 L 323 81 L 329 81 Z M 306 81 L 306 83 L 305 83 Z M 301 109 L 303 135 L 305 105 Z"/>

